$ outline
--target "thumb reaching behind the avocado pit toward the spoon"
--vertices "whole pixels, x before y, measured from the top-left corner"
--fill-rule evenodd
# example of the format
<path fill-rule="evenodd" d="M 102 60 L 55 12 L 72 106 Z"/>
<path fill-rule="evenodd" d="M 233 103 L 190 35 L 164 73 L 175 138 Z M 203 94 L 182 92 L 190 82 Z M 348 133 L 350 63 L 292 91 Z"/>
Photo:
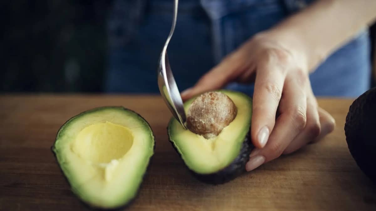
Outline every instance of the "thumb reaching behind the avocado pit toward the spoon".
<path fill-rule="evenodd" d="M 203 75 L 193 87 L 181 93 L 183 101 L 203 92 L 220 89 L 238 78 L 245 70 L 248 71 L 247 67 L 250 66 L 251 59 L 245 59 L 245 56 L 240 50 L 227 56 L 221 63 Z"/>

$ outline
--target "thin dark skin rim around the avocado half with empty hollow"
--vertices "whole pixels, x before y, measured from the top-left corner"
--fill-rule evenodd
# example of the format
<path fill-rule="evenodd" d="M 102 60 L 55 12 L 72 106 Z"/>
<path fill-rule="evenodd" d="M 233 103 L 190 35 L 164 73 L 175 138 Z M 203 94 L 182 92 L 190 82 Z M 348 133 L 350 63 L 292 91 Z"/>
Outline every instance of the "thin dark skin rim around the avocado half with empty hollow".
<path fill-rule="evenodd" d="M 73 118 L 75 118 L 76 116 L 80 116 L 82 114 L 85 114 L 85 113 L 90 113 L 90 112 L 95 112 L 97 110 L 102 110 L 102 109 L 111 109 L 111 108 L 117 108 L 117 109 L 123 109 L 123 110 L 126 110 L 126 111 L 129 111 L 129 112 L 133 112 L 135 113 L 137 116 L 139 116 L 140 118 L 144 119 L 141 115 L 139 115 L 139 113 L 135 112 L 134 110 L 131 110 L 131 109 L 127 109 L 123 106 L 103 106 L 103 107 L 97 107 L 97 108 L 94 108 L 94 109 L 90 109 L 90 110 L 86 110 L 84 112 L 81 112 L 79 113 L 78 115 L 75 115 L 73 116 L 72 118 L 68 119 L 58 130 L 58 133 L 56 134 L 56 139 L 57 139 L 57 135 L 59 134 L 59 131 L 64 127 L 65 124 L 67 124 L 69 121 L 71 121 Z M 154 140 L 154 146 L 153 146 L 153 152 L 155 151 L 155 145 L 156 145 L 156 140 L 155 140 L 155 135 L 154 135 L 154 132 L 152 130 L 152 127 L 150 127 L 150 124 L 149 122 L 146 121 L 146 119 L 144 119 L 144 121 L 147 123 L 147 125 L 149 126 L 151 132 L 152 132 L 152 136 L 154 137 L 153 140 Z M 58 162 L 58 157 L 55 153 L 55 151 L 53 150 L 54 146 L 55 146 L 55 142 L 56 142 L 56 139 L 53 143 L 53 145 L 51 146 L 50 150 L 52 151 L 52 154 L 53 154 L 53 157 L 55 158 L 55 162 L 58 164 L 59 166 L 59 169 L 60 169 L 60 173 L 63 175 L 64 179 L 65 179 L 65 182 L 68 183 L 68 185 L 70 186 L 70 183 L 68 181 L 68 178 L 65 176 L 63 170 L 61 169 L 60 167 L 60 164 Z M 145 173 L 144 175 L 142 175 L 142 180 L 144 180 L 145 176 L 147 175 L 147 173 L 149 172 L 149 169 L 150 169 L 150 166 L 151 166 L 151 163 L 153 162 L 153 155 L 150 157 L 149 159 L 149 165 L 147 166 L 146 170 L 145 170 Z M 100 207 L 95 207 L 95 206 L 91 206 L 89 205 L 88 203 L 80 200 L 79 197 L 76 197 L 77 199 L 79 199 L 79 202 L 85 206 L 86 208 L 88 209 L 91 209 L 91 210 L 97 210 L 97 211 L 102 211 L 102 210 L 111 210 L 111 211 L 121 211 L 121 210 L 124 210 L 124 209 L 127 209 L 129 206 L 132 205 L 132 203 L 137 199 L 137 197 L 139 196 L 139 191 L 141 190 L 143 186 L 143 182 L 141 182 L 138 190 L 137 190 L 137 193 L 135 194 L 135 197 L 133 197 L 131 200 L 129 200 L 127 203 L 124 203 L 123 205 L 121 206 L 118 206 L 118 207 L 114 207 L 114 208 L 100 208 Z M 70 186 L 71 187 L 71 186 Z"/>

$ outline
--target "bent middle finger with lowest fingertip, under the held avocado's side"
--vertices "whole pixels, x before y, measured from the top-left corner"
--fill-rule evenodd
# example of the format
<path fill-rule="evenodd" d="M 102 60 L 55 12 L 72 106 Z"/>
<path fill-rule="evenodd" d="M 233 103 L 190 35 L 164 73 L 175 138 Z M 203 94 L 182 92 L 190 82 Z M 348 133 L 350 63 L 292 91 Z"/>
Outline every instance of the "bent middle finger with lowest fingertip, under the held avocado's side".
<path fill-rule="evenodd" d="M 261 164 L 274 160 L 290 145 L 291 141 L 305 128 L 307 98 L 303 89 L 300 89 L 298 80 L 287 80 L 284 88 L 284 97 L 280 102 L 281 115 L 264 148 L 252 152 L 246 164 L 250 171 Z"/>

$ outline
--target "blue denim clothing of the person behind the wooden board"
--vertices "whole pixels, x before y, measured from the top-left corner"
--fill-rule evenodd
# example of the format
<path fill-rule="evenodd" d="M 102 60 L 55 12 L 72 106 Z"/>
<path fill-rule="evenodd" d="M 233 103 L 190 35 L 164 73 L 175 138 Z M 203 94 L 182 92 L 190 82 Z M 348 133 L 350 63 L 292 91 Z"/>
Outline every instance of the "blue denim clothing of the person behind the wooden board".
<path fill-rule="evenodd" d="M 179 90 L 191 87 L 255 33 L 313 0 L 180 0 L 168 56 Z M 116 0 L 109 18 L 106 91 L 158 93 L 156 68 L 172 19 L 172 0 Z M 370 86 L 368 32 L 335 51 L 310 75 L 317 96 L 358 96 Z M 228 89 L 252 96 L 253 85 Z"/>

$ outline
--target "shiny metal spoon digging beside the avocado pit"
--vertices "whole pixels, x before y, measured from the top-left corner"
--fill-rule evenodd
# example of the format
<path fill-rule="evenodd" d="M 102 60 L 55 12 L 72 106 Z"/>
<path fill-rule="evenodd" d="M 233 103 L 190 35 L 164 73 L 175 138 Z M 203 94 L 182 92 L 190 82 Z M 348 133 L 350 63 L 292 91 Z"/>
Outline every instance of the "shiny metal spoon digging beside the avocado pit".
<path fill-rule="evenodd" d="M 176 25 L 177 4 L 178 4 L 178 0 L 174 0 L 174 16 L 173 16 L 172 26 L 171 26 L 170 34 L 168 35 L 166 43 L 162 49 L 161 56 L 159 57 L 157 77 L 158 77 L 159 92 L 161 92 L 161 95 L 165 103 L 167 104 L 174 118 L 180 122 L 180 124 L 183 126 L 184 129 L 186 129 L 184 125 L 186 121 L 186 116 L 185 116 L 185 110 L 183 107 L 183 100 L 180 96 L 179 89 L 177 89 L 174 75 L 172 74 L 170 63 L 168 62 L 168 57 L 167 57 L 167 45 L 170 42 L 170 39 L 174 33 L 175 25 Z"/>

